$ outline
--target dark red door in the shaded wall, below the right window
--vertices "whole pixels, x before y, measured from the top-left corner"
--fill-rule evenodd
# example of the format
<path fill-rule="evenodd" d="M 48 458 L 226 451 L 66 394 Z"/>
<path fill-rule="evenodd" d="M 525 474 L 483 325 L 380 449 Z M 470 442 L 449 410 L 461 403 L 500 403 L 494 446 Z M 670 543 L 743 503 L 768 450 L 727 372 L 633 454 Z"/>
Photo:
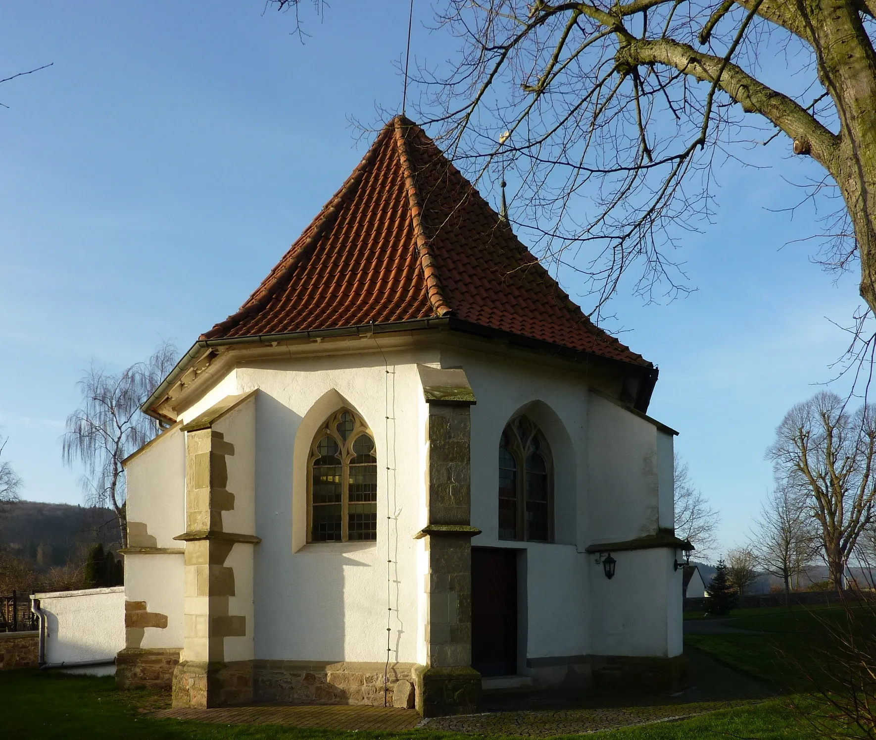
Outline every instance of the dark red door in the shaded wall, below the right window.
<path fill-rule="evenodd" d="M 471 666 L 482 676 L 517 672 L 517 551 L 471 548 Z"/>

